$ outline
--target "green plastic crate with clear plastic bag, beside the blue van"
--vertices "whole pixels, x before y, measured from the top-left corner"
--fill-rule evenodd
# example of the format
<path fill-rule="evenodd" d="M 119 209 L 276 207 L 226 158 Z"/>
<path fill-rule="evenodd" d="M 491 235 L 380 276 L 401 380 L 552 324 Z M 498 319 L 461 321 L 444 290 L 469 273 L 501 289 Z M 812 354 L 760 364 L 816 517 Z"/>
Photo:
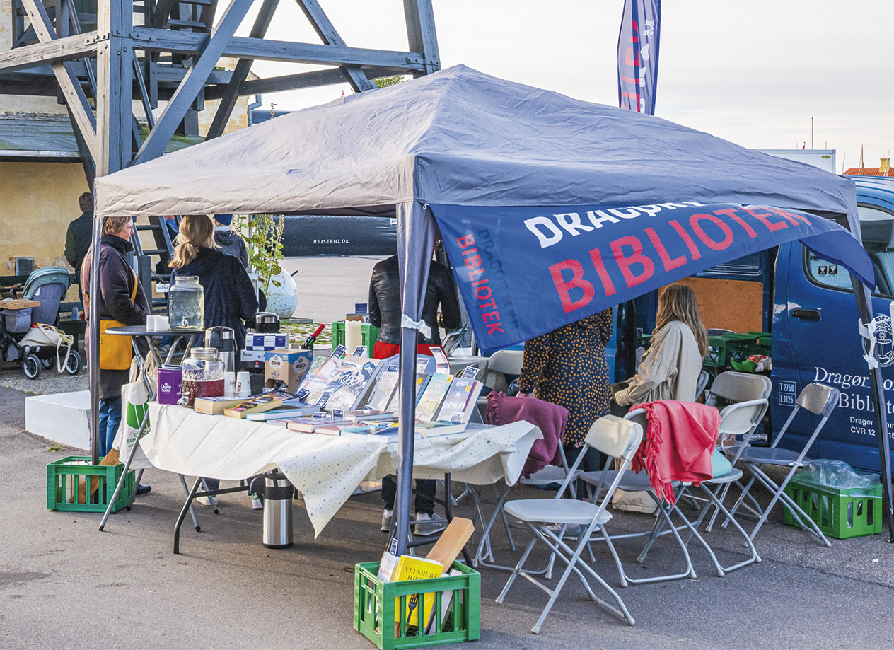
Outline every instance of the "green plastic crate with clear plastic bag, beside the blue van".
<path fill-rule="evenodd" d="M 881 533 L 881 483 L 842 490 L 816 485 L 796 475 L 786 485 L 785 494 L 828 536 L 846 539 Z M 788 508 L 782 520 L 797 526 Z"/>

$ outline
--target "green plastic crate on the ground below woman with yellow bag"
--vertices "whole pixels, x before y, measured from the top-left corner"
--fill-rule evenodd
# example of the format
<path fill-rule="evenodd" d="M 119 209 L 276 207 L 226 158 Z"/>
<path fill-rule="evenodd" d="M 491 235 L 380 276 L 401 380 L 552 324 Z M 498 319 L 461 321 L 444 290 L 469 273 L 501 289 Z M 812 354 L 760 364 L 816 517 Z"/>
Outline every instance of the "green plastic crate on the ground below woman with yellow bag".
<path fill-rule="evenodd" d="M 68 456 L 46 466 L 46 510 L 74 512 L 105 512 L 108 499 L 124 471 L 124 464 L 91 465 L 89 456 Z M 113 512 L 130 508 L 133 503 L 135 479 L 133 470 L 127 473 L 121 492 L 115 499 Z M 87 486 L 84 497 L 78 492 Z M 90 495 L 90 489 L 97 485 Z"/>

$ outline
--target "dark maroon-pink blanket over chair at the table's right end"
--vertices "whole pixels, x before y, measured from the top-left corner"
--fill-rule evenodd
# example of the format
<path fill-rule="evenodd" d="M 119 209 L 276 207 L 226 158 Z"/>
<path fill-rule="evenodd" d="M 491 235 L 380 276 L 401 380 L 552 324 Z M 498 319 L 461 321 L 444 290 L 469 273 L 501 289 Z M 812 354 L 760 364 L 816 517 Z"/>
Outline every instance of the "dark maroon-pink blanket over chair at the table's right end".
<path fill-rule="evenodd" d="M 547 465 L 560 465 L 559 445 L 568 421 L 568 409 L 535 397 L 510 397 L 506 393 L 490 393 L 487 396 L 487 422 L 494 426 L 525 420 L 538 426 L 544 434 L 542 440 L 534 441 L 527 455 L 524 477 L 530 477 Z"/>

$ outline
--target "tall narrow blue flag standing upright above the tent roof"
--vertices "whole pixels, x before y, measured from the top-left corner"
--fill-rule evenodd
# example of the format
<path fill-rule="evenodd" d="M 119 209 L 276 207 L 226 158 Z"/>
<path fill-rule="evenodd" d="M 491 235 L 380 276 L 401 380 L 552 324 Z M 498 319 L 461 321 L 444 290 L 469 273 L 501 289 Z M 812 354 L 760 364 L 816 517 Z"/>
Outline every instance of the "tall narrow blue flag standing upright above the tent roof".
<path fill-rule="evenodd" d="M 626 0 L 618 35 L 618 106 L 655 114 L 661 0 Z"/>

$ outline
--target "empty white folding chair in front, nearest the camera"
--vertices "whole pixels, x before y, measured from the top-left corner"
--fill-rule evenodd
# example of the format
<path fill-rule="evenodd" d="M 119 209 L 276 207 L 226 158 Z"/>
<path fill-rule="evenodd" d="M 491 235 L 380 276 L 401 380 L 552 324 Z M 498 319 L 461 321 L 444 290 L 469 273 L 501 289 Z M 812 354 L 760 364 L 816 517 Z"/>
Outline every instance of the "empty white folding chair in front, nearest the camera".
<path fill-rule="evenodd" d="M 584 551 L 590 538 L 595 534 L 606 540 L 611 553 L 614 554 L 611 540 L 604 530 L 605 523 L 611 519 L 611 513 L 606 512 L 605 507 L 611 502 L 611 494 L 614 494 L 615 489 L 624 477 L 624 473 L 627 471 L 630 464 L 630 459 L 632 459 L 633 455 L 637 452 L 637 448 L 642 439 L 642 426 L 636 422 L 616 418 L 615 416 L 599 418 L 593 423 L 593 426 L 590 427 L 584 440 L 584 446 L 578 454 L 578 459 L 575 460 L 569 475 L 565 477 L 565 480 L 562 482 L 560 491 L 564 492 L 568 488 L 574 473 L 578 469 L 580 461 L 583 460 L 584 455 L 586 454 L 586 450 L 589 447 L 594 447 L 596 450 L 620 460 L 620 467 L 612 479 L 611 485 L 609 485 L 608 490 L 606 491 L 606 498 L 601 505 L 597 506 L 594 503 L 580 501 L 578 499 L 519 499 L 518 501 L 510 501 L 506 503 L 505 510 L 510 516 L 521 519 L 527 527 L 531 529 L 534 536 L 531 538 L 530 543 L 527 544 L 527 548 L 525 549 L 525 552 L 522 553 L 519 563 L 516 565 L 515 569 L 512 570 L 512 574 L 506 582 L 506 586 L 503 587 L 502 592 L 497 596 L 496 602 L 502 604 L 503 599 L 509 593 L 510 587 L 512 587 L 512 583 L 519 574 L 533 582 L 537 587 L 543 589 L 550 595 L 550 599 L 544 607 L 544 611 L 541 612 L 540 618 L 537 619 L 537 622 L 531 629 L 535 634 L 540 631 L 540 627 L 543 625 L 546 615 L 550 612 L 550 609 L 552 609 L 552 604 L 555 603 L 556 598 L 558 598 L 562 587 L 564 587 L 565 582 L 568 580 L 572 571 L 578 575 L 578 578 L 580 578 L 581 583 L 586 589 L 586 593 L 591 599 L 596 603 L 601 604 L 610 612 L 620 616 L 629 625 L 633 625 L 635 622 L 633 617 L 630 616 L 630 612 L 628 612 L 624 602 L 620 599 L 620 595 L 618 595 L 614 589 L 609 587 L 603 578 L 601 578 L 600 575 L 586 563 L 586 561 L 581 559 L 580 554 Z M 561 532 L 557 535 L 549 528 L 549 524 L 561 524 Z M 578 542 L 575 548 L 572 549 L 564 542 L 562 534 L 565 527 L 574 525 L 580 526 L 581 534 L 578 536 Z M 531 550 L 534 548 L 534 545 L 538 540 L 546 544 L 552 552 L 553 557 L 559 558 L 567 565 L 566 569 L 562 572 L 561 578 L 559 578 L 556 586 L 552 589 L 545 586 L 529 572 L 524 570 L 525 561 L 527 561 L 528 555 L 530 555 Z M 595 595 L 581 569 L 589 573 L 606 591 L 609 592 L 617 606 L 609 604 Z"/>

